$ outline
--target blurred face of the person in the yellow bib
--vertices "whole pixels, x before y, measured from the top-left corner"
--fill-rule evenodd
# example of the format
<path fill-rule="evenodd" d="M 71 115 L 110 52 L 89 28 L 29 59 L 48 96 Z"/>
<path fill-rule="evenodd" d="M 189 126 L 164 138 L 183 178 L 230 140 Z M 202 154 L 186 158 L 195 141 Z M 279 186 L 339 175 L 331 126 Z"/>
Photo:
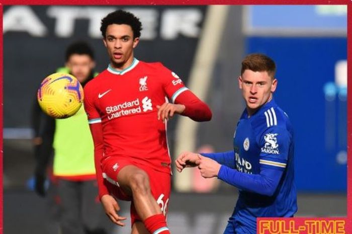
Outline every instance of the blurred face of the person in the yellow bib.
<path fill-rule="evenodd" d="M 79 83 L 83 83 L 89 78 L 96 64 L 87 54 L 72 54 L 65 65 Z"/>

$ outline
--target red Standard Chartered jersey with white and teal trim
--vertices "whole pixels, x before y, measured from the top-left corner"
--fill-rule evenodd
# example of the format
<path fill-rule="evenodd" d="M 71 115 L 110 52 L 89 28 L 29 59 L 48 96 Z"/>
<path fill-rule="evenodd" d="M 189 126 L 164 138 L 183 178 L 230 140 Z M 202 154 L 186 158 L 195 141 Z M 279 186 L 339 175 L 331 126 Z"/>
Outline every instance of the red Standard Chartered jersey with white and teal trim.
<path fill-rule="evenodd" d="M 137 59 L 122 71 L 109 67 L 84 87 L 84 108 L 90 124 L 103 128 L 104 156 L 128 157 L 170 173 L 166 123 L 157 119 L 157 105 L 188 89 L 161 63 Z"/>

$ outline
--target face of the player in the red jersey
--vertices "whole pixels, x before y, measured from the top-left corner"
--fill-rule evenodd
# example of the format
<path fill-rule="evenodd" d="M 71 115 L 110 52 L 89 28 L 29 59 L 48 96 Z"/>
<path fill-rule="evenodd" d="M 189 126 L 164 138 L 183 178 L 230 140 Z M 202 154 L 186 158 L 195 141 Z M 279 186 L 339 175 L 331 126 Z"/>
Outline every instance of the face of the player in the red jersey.
<path fill-rule="evenodd" d="M 108 50 L 111 65 L 116 69 L 125 69 L 132 64 L 133 49 L 139 38 L 133 39 L 131 26 L 126 24 L 111 24 L 106 30 L 104 45 Z"/>

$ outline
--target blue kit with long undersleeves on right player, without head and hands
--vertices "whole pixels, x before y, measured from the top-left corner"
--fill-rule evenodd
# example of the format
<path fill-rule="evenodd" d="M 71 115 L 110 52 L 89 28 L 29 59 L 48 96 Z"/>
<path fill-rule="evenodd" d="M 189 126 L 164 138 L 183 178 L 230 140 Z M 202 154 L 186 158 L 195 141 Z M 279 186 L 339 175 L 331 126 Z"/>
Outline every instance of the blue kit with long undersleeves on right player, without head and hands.
<path fill-rule="evenodd" d="M 274 100 L 237 123 L 233 151 L 202 153 L 220 163 L 218 178 L 239 197 L 225 233 L 256 233 L 257 217 L 291 217 L 297 211 L 293 128 Z"/>

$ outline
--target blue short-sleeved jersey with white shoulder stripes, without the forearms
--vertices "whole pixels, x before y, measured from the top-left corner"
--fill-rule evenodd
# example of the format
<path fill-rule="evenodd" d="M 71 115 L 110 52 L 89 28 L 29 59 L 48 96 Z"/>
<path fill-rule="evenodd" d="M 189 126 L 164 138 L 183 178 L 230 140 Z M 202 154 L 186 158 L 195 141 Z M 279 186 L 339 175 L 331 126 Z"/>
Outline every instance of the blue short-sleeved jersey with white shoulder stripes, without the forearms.
<path fill-rule="evenodd" d="M 240 189 L 235 220 L 255 228 L 256 217 L 293 216 L 297 211 L 294 139 L 287 114 L 274 100 L 249 118 L 245 110 L 235 130 L 233 147 L 238 172 L 259 174 L 263 168 L 283 171 L 272 196 Z"/>

